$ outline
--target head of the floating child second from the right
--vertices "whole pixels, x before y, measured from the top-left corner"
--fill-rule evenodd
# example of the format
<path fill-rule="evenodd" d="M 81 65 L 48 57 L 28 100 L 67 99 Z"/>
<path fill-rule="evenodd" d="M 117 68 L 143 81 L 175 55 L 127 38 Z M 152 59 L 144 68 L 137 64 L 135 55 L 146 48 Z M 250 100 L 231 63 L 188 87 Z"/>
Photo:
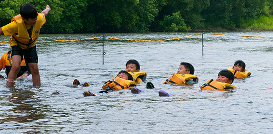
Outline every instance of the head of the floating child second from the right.
<path fill-rule="evenodd" d="M 223 69 L 218 73 L 216 81 L 231 84 L 234 80 L 233 73 L 228 69 Z"/>

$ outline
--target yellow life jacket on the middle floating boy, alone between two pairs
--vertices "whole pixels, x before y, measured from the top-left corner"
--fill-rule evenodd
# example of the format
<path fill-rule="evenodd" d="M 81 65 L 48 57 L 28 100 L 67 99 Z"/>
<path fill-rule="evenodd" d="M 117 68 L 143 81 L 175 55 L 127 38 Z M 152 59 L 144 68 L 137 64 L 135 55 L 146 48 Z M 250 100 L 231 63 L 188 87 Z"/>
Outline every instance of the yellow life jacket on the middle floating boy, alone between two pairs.
<path fill-rule="evenodd" d="M 199 80 L 198 77 L 193 74 L 174 73 L 172 76 L 170 76 L 168 79 L 166 79 L 164 84 L 189 84 L 188 82 L 190 79 L 192 79 L 194 81 L 193 83 L 197 83 Z M 193 84 L 193 83 L 191 83 L 191 84 Z"/>

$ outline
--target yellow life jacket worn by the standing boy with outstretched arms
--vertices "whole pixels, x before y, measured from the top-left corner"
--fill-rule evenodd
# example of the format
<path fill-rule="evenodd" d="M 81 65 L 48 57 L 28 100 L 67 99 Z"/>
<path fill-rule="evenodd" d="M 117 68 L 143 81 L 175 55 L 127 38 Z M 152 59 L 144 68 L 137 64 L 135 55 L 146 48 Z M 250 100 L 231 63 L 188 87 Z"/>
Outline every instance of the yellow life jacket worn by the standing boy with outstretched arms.
<path fill-rule="evenodd" d="M 17 45 L 20 46 L 22 49 L 27 49 L 27 48 L 31 48 L 31 47 L 35 46 L 36 40 L 40 34 L 41 20 L 37 19 L 35 25 L 31 27 L 31 29 L 30 29 L 31 35 L 28 34 L 25 22 L 22 19 L 20 14 L 14 16 L 11 19 L 11 22 L 12 21 L 16 22 L 17 28 L 18 28 L 18 33 L 13 34 L 10 37 L 10 40 L 15 41 L 17 43 Z M 10 46 L 15 46 L 15 45 L 10 44 Z"/>

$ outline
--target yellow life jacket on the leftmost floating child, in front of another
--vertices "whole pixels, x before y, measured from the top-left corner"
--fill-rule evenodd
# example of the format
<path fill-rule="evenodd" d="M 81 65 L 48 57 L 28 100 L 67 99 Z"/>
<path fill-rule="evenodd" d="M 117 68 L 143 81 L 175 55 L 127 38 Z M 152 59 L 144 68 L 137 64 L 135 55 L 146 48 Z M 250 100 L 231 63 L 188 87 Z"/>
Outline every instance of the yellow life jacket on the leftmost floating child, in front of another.
<path fill-rule="evenodd" d="M 102 89 L 111 88 L 111 89 L 127 89 L 136 86 L 136 82 L 132 80 L 126 80 L 120 77 L 111 78 L 104 83 Z"/>

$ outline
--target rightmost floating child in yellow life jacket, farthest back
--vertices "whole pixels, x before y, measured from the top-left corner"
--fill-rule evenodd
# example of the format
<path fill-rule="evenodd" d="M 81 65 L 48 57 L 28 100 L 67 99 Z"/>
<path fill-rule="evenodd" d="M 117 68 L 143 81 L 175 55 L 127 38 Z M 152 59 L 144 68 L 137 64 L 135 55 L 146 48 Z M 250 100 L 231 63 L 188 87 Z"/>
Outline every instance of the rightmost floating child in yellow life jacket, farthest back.
<path fill-rule="evenodd" d="M 233 73 L 234 78 L 246 78 L 250 76 L 251 72 L 245 68 L 246 64 L 243 61 L 238 60 L 234 63 L 233 67 L 228 67 L 227 69 Z"/>

